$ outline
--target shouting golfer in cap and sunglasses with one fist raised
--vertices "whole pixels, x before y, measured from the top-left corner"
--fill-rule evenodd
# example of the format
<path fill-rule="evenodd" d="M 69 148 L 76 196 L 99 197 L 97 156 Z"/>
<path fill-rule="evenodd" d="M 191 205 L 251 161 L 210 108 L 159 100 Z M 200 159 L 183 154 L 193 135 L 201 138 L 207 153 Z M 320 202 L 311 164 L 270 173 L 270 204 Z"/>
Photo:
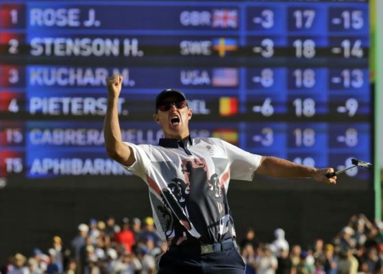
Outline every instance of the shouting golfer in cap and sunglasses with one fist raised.
<path fill-rule="evenodd" d="M 184 93 L 174 89 L 156 97 L 153 119 L 164 132 L 158 146 L 123 142 L 117 110 L 122 81 L 119 75 L 106 79 L 106 151 L 149 186 L 153 219 L 169 245 L 160 258 L 161 274 L 245 273 L 226 198 L 230 178 L 251 181 L 256 173 L 336 183 L 336 176 L 325 176 L 332 168 L 252 154 L 219 138 L 192 138 L 193 111 Z"/>

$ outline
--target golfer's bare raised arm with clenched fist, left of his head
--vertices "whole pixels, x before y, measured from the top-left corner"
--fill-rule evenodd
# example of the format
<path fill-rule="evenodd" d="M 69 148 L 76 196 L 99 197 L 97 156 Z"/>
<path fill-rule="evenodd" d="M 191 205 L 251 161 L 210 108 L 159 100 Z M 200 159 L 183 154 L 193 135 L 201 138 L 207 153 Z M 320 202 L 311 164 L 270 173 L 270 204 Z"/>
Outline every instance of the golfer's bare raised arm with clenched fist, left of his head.
<path fill-rule="evenodd" d="M 123 77 L 113 75 L 106 78 L 108 88 L 108 105 L 105 121 L 103 123 L 103 137 L 105 139 L 106 152 L 113 160 L 131 166 L 136 162 L 132 148 L 125 145 L 121 138 L 119 123 L 118 101 L 121 92 Z"/>

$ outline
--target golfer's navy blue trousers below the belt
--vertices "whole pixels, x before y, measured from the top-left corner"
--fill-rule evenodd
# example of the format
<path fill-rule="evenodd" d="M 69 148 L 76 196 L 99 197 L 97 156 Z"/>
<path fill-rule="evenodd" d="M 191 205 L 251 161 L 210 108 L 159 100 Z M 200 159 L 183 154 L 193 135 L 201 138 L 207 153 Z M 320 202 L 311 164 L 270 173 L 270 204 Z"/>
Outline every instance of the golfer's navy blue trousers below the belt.
<path fill-rule="evenodd" d="M 160 258 L 158 274 L 245 274 L 245 262 L 233 248 L 205 255 L 168 250 Z"/>

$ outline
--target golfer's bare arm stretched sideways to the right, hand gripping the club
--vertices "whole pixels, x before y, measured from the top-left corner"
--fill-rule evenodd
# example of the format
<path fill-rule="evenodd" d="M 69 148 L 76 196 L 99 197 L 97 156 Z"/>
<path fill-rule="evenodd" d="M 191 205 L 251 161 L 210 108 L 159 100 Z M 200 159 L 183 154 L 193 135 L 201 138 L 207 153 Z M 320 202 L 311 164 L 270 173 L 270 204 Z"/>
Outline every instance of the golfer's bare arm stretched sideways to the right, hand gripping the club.
<path fill-rule="evenodd" d="M 328 178 L 327 173 L 334 172 L 334 169 L 315 169 L 314 167 L 295 164 L 281 158 L 262 156 L 260 166 L 256 174 L 270 177 L 291 178 L 291 177 L 312 177 L 318 182 L 336 184 L 336 176 Z"/>

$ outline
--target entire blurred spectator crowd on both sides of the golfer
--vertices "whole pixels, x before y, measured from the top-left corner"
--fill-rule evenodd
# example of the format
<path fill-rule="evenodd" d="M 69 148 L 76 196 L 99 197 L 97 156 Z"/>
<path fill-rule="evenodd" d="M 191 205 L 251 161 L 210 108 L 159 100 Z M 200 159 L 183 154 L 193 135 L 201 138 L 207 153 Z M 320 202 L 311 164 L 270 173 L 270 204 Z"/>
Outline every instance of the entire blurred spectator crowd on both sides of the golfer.
<path fill-rule="evenodd" d="M 77 228 L 69 247 L 54 236 L 47 252 L 36 248 L 30 258 L 16 253 L 0 274 L 153 274 L 167 249 L 151 217 L 116 223 L 109 216 Z M 261 242 L 250 228 L 238 240 L 246 274 L 383 273 L 383 222 L 371 223 L 363 214 L 351 216 L 331 242 L 318 238 L 312 247 L 290 245 L 281 228 L 274 234 L 272 242 Z"/>

